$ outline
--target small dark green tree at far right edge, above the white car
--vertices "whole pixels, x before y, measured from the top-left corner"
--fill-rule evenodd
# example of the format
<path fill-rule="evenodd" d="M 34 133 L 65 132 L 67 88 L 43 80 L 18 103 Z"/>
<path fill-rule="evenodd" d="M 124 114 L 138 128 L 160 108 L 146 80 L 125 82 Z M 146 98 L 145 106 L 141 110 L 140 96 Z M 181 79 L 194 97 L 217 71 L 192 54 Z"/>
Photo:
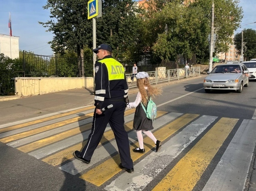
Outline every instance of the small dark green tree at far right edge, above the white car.
<path fill-rule="evenodd" d="M 243 30 L 243 42 L 244 50 L 243 55 L 245 60 L 250 60 L 256 57 L 256 31 L 253 29 Z M 242 43 L 242 32 L 237 33 L 234 37 L 234 44 L 238 53 L 241 54 L 241 44 Z"/>

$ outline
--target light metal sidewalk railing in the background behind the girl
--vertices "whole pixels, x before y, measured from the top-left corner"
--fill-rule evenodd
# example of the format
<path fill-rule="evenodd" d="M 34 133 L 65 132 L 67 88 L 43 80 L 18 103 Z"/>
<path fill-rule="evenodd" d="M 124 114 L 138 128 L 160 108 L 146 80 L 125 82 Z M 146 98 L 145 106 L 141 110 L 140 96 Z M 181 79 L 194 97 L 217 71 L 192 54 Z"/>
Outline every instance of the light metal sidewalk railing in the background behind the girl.
<path fill-rule="evenodd" d="M 179 80 L 188 77 L 200 76 L 200 67 L 178 68 L 171 70 L 158 70 L 147 72 L 151 84 L 158 84 L 161 82 L 170 82 L 172 80 Z M 129 88 L 137 87 L 136 78 L 132 80 L 132 73 L 126 74 L 126 81 Z"/>

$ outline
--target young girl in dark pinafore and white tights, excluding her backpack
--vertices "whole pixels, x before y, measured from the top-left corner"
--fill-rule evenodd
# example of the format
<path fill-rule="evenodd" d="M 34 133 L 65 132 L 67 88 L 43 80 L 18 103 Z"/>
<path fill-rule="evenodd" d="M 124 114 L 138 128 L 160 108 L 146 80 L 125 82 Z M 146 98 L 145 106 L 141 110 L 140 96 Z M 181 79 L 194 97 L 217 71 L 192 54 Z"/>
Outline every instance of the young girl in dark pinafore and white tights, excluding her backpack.
<path fill-rule="evenodd" d="M 157 140 L 153 133 L 151 133 L 151 129 L 154 127 L 152 126 L 152 120 L 147 118 L 147 115 L 144 109 L 141 106 L 141 103 L 144 107 L 147 107 L 148 100 L 151 96 L 159 95 L 161 90 L 159 88 L 152 87 L 150 85 L 149 75 L 146 72 L 138 72 L 136 75 L 137 78 L 137 86 L 139 88 L 138 95 L 136 100 L 132 103 L 128 104 L 128 108 L 136 107 L 134 119 L 133 119 L 133 129 L 136 130 L 138 141 L 139 141 L 139 148 L 132 149 L 133 152 L 145 152 L 143 146 L 143 136 L 142 132 L 146 134 L 149 138 L 151 138 L 156 145 L 156 152 L 158 152 L 161 148 L 161 141 Z"/>

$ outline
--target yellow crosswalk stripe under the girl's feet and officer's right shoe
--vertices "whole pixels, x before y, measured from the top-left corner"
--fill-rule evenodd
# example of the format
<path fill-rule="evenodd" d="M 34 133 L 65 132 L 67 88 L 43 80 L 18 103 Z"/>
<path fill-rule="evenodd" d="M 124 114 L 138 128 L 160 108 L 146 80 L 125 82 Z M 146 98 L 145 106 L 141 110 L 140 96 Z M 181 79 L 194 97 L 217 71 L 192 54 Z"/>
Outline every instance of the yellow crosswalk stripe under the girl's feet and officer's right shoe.
<path fill-rule="evenodd" d="M 160 113 L 160 112 L 158 112 Z M 175 121 L 165 125 L 164 127 L 156 130 L 154 132 L 155 137 L 163 141 L 170 137 L 178 129 L 182 128 L 184 125 L 188 124 L 190 121 L 198 117 L 197 114 L 185 114 L 182 117 L 176 119 Z M 150 149 L 155 147 L 154 142 L 149 138 L 144 138 L 145 153 L 135 153 L 132 151 L 133 146 L 130 147 L 132 161 L 136 161 L 141 158 L 144 154 L 149 152 Z M 138 143 L 136 144 L 138 146 Z M 117 166 L 120 163 L 119 154 L 115 155 L 113 158 L 101 163 L 95 168 L 89 170 L 87 173 L 80 176 L 81 179 L 93 183 L 96 186 L 101 186 L 104 182 L 112 178 L 114 175 L 119 173 L 121 169 Z M 135 169 L 136 170 L 136 169 Z M 100 173 L 99 173 L 100 172 Z"/>

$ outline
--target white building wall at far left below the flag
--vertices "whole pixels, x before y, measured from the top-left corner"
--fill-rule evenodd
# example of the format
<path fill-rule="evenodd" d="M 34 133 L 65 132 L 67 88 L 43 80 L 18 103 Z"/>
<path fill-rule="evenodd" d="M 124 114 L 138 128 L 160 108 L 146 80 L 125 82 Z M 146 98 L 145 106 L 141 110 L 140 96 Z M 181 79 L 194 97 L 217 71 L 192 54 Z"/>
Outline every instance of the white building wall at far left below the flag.
<path fill-rule="evenodd" d="M 0 53 L 12 59 L 19 58 L 19 38 L 0 34 Z"/>

